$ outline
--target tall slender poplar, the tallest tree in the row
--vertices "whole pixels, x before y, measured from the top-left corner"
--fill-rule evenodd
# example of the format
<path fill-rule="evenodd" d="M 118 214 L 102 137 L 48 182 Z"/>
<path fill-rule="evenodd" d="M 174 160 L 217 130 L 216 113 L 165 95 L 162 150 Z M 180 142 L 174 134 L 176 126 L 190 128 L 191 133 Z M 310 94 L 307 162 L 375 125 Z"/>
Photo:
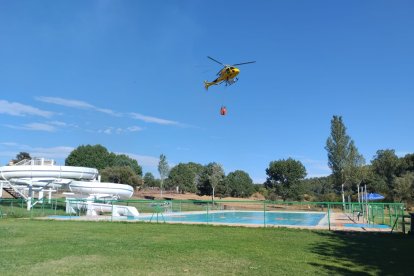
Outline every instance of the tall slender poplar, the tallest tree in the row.
<path fill-rule="evenodd" d="M 331 135 L 326 141 L 325 149 L 328 152 L 328 166 L 332 170 L 334 187 L 341 189 L 342 200 L 345 201 L 344 189 L 349 189 L 352 194 L 352 186 L 359 185 L 363 179 L 361 167 L 365 164 L 365 159 L 346 134 L 341 116 L 333 116 L 331 120 Z"/>

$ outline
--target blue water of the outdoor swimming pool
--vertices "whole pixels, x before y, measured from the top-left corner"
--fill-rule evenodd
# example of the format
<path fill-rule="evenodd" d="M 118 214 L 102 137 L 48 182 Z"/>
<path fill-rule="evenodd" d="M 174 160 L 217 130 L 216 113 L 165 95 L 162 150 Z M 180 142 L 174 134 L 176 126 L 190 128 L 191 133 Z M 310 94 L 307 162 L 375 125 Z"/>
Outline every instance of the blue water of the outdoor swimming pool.
<path fill-rule="evenodd" d="M 326 213 L 319 212 L 258 212 L 223 211 L 210 213 L 164 213 L 158 215 L 158 221 L 177 223 L 212 223 L 238 225 L 274 225 L 274 226 L 317 226 L 323 223 Z M 134 220 L 156 221 L 156 215 L 142 215 Z"/>

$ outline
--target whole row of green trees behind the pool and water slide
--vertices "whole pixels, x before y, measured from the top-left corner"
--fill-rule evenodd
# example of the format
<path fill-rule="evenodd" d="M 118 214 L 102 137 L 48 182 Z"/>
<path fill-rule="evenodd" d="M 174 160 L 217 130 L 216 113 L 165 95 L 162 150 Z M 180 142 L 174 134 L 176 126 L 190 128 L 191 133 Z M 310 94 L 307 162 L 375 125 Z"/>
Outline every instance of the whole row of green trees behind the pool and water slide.
<path fill-rule="evenodd" d="M 249 174 L 242 170 L 226 175 L 216 162 L 179 163 L 170 168 L 163 154 L 158 165 L 160 178 L 149 172 L 143 175 L 135 159 L 109 152 L 102 145 L 79 146 L 66 158 L 65 165 L 97 168 L 102 181 L 213 197 L 250 197 L 260 193 L 270 200 L 342 201 L 345 198 L 355 201 L 358 188 L 366 186 L 368 192 L 383 194 L 387 202 L 413 204 L 414 154 L 398 157 L 393 149 L 378 150 L 371 163 L 366 164 L 347 134 L 341 116 L 333 116 L 331 120 L 325 149 L 331 175 L 305 178 L 306 168 L 300 161 L 280 159 L 269 163 L 267 180 L 260 184 L 253 184 Z M 21 152 L 12 161 L 25 158 L 30 158 L 30 154 Z"/>

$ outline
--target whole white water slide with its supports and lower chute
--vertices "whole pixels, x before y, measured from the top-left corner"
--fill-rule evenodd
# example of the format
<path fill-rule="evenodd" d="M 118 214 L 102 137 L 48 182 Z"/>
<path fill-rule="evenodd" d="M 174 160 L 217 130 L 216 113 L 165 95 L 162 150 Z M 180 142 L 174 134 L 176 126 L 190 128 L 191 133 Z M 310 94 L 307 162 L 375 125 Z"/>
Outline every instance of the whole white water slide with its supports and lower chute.
<path fill-rule="evenodd" d="M 96 199 L 129 199 L 134 193 L 130 185 L 100 182 L 99 179 L 99 172 L 94 168 L 58 166 L 54 160 L 44 158 L 22 160 L 0 167 L 0 198 L 6 191 L 14 198 L 24 199 L 30 210 L 43 201 L 45 192 L 50 201 L 57 188 L 68 187 L 72 193 L 67 198 L 67 212 L 75 212 L 82 205 L 89 215 L 107 211 L 113 216 L 139 215 L 134 207 L 118 208 L 112 204 L 94 203 Z M 73 202 L 76 202 L 75 206 L 70 206 Z"/>

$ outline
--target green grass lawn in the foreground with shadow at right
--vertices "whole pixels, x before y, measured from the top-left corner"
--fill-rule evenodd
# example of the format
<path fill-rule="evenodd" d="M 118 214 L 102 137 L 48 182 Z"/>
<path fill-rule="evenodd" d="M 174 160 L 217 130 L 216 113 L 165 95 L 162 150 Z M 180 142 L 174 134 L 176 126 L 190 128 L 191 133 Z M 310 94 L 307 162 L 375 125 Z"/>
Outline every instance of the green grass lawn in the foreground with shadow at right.
<path fill-rule="evenodd" d="M 0 275 L 409 275 L 413 249 L 402 234 L 0 219 Z"/>

